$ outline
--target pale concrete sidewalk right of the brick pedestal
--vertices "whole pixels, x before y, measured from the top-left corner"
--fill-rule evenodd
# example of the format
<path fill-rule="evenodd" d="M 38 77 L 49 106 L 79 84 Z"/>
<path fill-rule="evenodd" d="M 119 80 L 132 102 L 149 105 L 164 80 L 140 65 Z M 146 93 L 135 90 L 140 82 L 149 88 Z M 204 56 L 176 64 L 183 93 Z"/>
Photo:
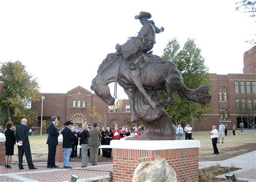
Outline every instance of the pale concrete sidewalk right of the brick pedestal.
<path fill-rule="evenodd" d="M 226 159 L 223 161 L 199 162 L 199 169 L 220 165 L 221 167 L 237 167 L 240 170 L 233 171 L 238 180 L 256 181 L 256 151 L 248 152 L 243 155 Z M 217 178 L 226 178 L 225 174 Z"/>

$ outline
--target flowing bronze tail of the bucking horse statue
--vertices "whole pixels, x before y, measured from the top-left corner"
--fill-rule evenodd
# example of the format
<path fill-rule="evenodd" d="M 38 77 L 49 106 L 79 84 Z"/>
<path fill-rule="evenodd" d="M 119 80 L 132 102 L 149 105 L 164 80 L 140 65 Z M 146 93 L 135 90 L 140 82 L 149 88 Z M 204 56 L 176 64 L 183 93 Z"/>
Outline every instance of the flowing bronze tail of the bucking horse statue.
<path fill-rule="evenodd" d="M 208 85 L 200 86 L 196 89 L 190 89 L 183 85 L 181 88 L 177 91 L 179 96 L 183 99 L 186 99 L 188 101 L 198 102 L 200 104 L 206 104 L 211 101 L 211 95 L 208 92 L 209 88 Z"/>

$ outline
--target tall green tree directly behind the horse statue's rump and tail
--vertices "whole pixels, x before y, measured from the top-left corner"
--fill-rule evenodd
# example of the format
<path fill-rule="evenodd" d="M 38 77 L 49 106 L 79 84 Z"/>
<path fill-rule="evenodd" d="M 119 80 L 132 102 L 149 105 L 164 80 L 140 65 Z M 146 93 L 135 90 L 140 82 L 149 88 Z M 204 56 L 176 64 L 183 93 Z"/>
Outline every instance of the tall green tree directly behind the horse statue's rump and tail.
<path fill-rule="evenodd" d="M 210 76 L 208 68 L 204 64 L 204 58 L 201 56 L 201 50 L 196 46 L 193 39 L 187 39 L 183 50 L 179 50 L 180 45 L 176 38 L 169 41 L 164 49 L 163 58 L 170 59 L 176 64 L 183 81 L 188 88 L 198 88 L 201 85 L 210 85 Z M 166 93 L 158 92 L 161 97 L 166 98 Z M 173 104 L 166 104 L 165 109 L 169 113 L 172 121 L 179 123 L 195 120 L 202 121 L 203 115 L 210 113 L 210 104 L 202 106 L 196 102 L 190 102 L 176 93 L 173 94 Z"/>

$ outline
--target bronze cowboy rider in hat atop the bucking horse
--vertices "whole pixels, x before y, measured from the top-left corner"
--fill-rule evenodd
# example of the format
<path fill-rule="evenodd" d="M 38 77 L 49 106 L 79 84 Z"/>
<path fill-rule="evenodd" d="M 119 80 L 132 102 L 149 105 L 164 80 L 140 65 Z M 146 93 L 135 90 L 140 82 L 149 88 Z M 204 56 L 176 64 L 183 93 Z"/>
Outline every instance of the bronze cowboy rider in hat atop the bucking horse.
<path fill-rule="evenodd" d="M 154 44 L 156 44 L 156 33 L 164 31 L 163 26 L 159 29 L 154 25 L 153 20 L 148 20 L 151 18 L 149 12 L 142 11 L 134 18 L 139 19 L 140 23 L 143 25 L 138 32 L 138 36 L 130 37 L 123 45 L 116 45 L 116 54 L 122 54 L 124 58 L 129 58 L 130 55 L 136 54 L 137 52 L 147 53 L 152 50 Z"/>

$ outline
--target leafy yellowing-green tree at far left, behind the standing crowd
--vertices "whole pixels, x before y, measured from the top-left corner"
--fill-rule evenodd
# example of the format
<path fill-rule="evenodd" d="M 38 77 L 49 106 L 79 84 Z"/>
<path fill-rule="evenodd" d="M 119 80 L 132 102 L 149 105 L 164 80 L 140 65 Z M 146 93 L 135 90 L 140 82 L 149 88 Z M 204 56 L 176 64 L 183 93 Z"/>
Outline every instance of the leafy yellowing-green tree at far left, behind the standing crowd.
<path fill-rule="evenodd" d="M 4 62 L 0 67 L 0 118 L 3 122 L 13 121 L 18 124 L 27 118 L 28 124 L 37 120 L 37 109 L 31 103 L 39 100 L 40 93 L 36 79 L 32 78 L 20 61 Z"/>

